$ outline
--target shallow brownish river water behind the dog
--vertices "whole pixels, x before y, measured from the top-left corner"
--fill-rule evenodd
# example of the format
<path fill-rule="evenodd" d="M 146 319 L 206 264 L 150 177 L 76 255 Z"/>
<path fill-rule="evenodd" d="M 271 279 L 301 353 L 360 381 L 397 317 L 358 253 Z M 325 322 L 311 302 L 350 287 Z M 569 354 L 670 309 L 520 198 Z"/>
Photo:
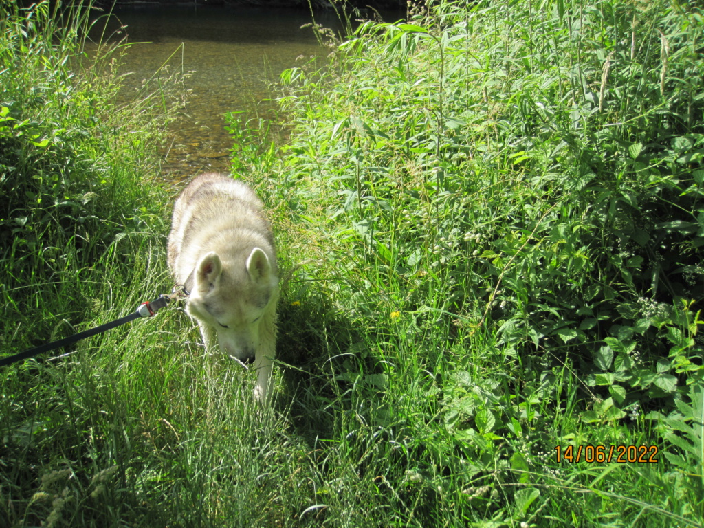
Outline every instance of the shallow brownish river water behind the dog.
<path fill-rule="evenodd" d="M 144 81 L 165 63 L 189 73 L 184 116 L 172 125 L 162 151 L 162 175 L 180 180 L 205 170 L 228 169 L 232 139 L 225 114 L 270 118 L 279 74 L 312 56 L 325 57 L 306 11 L 234 6 L 145 5 L 119 8 L 108 34 L 126 26 L 132 46 L 123 58 L 125 87 L 137 96 Z M 337 15 L 322 13 L 315 21 L 339 27 Z"/>

